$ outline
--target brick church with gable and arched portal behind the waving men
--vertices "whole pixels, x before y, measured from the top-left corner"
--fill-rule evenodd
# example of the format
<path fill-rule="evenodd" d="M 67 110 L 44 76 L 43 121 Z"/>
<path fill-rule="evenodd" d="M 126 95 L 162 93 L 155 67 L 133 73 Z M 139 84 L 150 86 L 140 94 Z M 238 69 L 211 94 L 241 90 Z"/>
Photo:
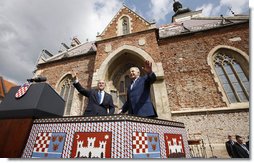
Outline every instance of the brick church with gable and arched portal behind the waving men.
<path fill-rule="evenodd" d="M 73 72 L 86 88 L 104 79 L 117 112 L 129 68 L 149 60 L 158 118 L 183 122 L 208 157 L 227 157 L 227 135 L 249 135 L 249 16 L 203 17 L 179 3 L 174 11 L 172 22 L 158 28 L 123 5 L 96 41 L 74 38 L 58 54 L 43 50 L 35 75 L 47 77 L 64 98 L 65 116 L 83 115 L 87 104 L 72 86 Z"/>

